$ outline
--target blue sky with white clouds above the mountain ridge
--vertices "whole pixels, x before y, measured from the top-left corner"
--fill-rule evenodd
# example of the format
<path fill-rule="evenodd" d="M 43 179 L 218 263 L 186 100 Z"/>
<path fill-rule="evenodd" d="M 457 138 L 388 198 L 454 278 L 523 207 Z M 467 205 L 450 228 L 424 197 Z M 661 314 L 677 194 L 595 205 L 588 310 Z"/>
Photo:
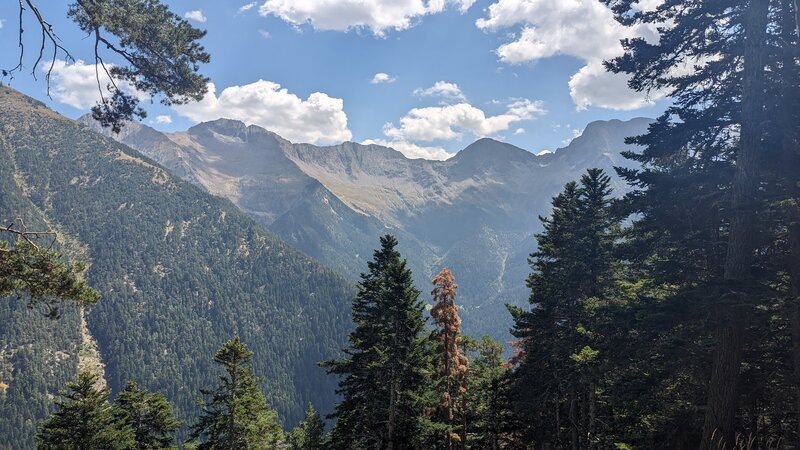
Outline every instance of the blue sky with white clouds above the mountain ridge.
<path fill-rule="evenodd" d="M 93 39 L 67 18 L 71 2 L 35 3 L 77 61 L 55 58 L 48 98 L 41 65 L 31 76 L 39 41 L 28 33 L 24 70 L 2 81 L 78 117 L 99 98 Z M 446 159 L 481 137 L 552 151 L 589 122 L 656 117 L 668 102 L 605 71 L 603 60 L 622 54 L 620 39 L 657 32 L 623 27 L 598 0 L 165 3 L 207 30 L 211 62 L 201 70 L 210 79 L 203 101 L 143 98 L 144 122 L 162 131 L 226 117 L 293 142 L 378 143 Z M 18 15 L 15 2 L 0 4 L 4 69 L 19 57 Z M 30 20 L 24 28 L 35 31 Z"/>

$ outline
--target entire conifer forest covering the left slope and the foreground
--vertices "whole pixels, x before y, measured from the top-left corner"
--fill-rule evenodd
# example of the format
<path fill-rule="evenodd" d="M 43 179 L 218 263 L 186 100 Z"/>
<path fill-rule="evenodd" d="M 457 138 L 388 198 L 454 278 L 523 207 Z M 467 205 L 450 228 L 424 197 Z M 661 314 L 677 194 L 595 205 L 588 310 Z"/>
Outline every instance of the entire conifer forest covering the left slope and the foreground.
<path fill-rule="evenodd" d="M 3 448 L 800 449 L 797 2 L 604 3 L 670 24 L 606 68 L 672 102 L 629 138 L 638 168 L 552 198 L 510 351 L 463 334 L 458 274 L 415 286 L 394 236 L 353 289 L 0 88 Z"/>

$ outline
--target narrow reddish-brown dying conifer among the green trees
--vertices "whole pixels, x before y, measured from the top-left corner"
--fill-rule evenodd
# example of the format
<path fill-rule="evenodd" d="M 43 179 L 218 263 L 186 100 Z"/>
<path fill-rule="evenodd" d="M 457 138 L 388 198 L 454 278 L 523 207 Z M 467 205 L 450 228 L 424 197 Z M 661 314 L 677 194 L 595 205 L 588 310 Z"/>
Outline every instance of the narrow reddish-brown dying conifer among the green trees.
<path fill-rule="evenodd" d="M 469 360 L 462 351 L 461 318 L 455 302 L 458 285 L 453 274 L 449 269 L 442 269 L 432 282 L 435 287 L 431 292 L 434 302 L 431 318 L 437 326 L 434 339 L 439 344 L 436 355 L 437 386 L 434 389 L 440 397 L 435 422 L 439 422 L 441 427 L 436 430 L 439 434 L 436 440 L 441 448 L 451 450 L 466 445 L 463 402 Z"/>

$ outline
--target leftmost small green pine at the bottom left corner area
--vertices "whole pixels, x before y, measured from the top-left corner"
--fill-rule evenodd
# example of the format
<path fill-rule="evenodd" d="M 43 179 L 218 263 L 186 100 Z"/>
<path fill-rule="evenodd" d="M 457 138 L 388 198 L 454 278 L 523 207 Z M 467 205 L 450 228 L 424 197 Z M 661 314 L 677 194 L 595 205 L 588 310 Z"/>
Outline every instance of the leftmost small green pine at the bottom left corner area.
<path fill-rule="evenodd" d="M 109 390 L 97 388 L 97 375 L 80 372 L 56 400 L 58 410 L 36 436 L 42 450 L 133 450 L 133 430 L 116 420 Z"/>

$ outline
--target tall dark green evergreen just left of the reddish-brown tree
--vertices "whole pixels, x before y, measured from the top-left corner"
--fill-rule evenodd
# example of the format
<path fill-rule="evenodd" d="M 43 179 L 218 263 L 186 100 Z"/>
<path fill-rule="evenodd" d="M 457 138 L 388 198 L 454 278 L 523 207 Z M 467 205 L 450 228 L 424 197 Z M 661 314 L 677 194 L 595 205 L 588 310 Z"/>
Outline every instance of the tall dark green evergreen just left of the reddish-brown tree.
<path fill-rule="evenodd" d="M 345 357 L 324 363 L 341 376 L 334 449 L 417 448 L 430 375 L 425 319 L 411 271 L 391 235 L 380 239 L 353 299 L 355 330 Z"/>

